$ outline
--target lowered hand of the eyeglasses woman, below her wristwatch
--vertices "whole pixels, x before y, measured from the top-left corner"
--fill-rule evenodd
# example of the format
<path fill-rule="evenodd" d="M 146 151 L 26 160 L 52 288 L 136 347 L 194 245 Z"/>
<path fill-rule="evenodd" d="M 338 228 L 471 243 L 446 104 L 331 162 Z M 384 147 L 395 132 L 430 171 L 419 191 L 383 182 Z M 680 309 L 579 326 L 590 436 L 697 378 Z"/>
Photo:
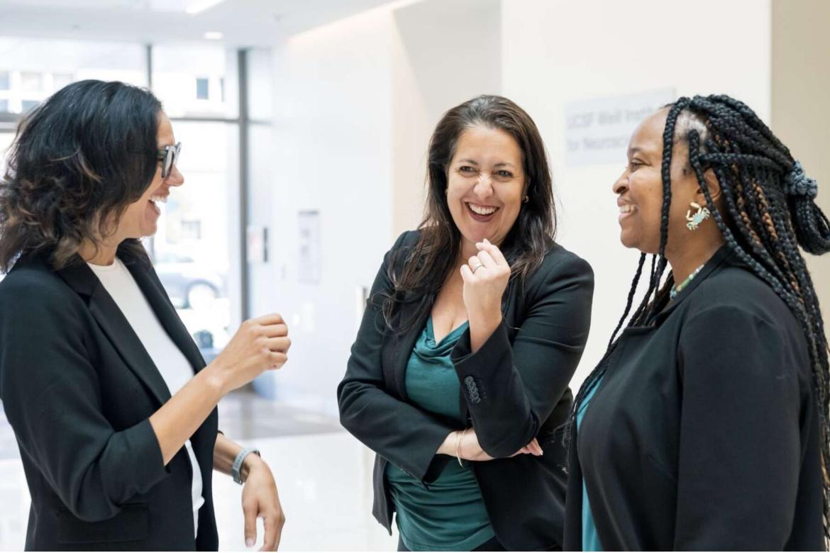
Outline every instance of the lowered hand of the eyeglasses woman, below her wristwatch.
<path fill-rule="evenodd" d="M 276 482 L 271 468 L 265 461 L 249 455 L 253 461 L 242 487 L 242 513 L 245 515 L 245 545 L 252 547 L 256 543 L 256 518 L 263 519 L 265 542 L 260 551 L 276 551 L 280 546 L 282 526 L 286 516 L 282 512 L 280 496 L 276 492 Z M 247 461 L 248 459 L 246 459 Z"/>

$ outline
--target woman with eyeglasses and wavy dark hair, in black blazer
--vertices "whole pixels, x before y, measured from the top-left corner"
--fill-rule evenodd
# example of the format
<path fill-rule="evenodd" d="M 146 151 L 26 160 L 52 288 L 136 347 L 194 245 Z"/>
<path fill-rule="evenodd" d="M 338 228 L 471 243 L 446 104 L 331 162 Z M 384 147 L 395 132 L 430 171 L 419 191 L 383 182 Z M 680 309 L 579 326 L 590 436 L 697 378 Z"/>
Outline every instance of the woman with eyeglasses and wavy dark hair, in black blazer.
<path fill-rule="evenodd" d="M 212 471 L 243 483 L 246 545 L 285 521 L 271 470 L 217 402 L 291 345 L 277 314 L 205 366 L 139 239 L 184 178 L 159 100 L 60 90 L 20 125 L 0 182 L 0 397 L 32 507 L 27 550 L 216 550 Z M 240 544 L 241 546 L 242 544 Z"/>

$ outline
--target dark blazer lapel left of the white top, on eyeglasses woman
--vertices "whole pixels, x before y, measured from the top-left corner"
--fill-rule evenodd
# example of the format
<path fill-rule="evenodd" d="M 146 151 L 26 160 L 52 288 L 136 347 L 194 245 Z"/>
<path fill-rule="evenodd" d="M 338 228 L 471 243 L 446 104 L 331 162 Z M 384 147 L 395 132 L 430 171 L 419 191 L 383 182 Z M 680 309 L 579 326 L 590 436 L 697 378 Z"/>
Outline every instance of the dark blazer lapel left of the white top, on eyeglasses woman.
<path fill-rule="evenodd" d="M 115 300 L 100 284 L 100 280 L 92 269 L 79 258 L 78 263 L 61 269 L 57 273 L 77 293 L 89 298 L 90 313 L 110 338 L 110 342 L 121 354 L 130 370 L 140 381 L 144 382 L 144 386 L 147 386 L 150 393 L 159 401 L 159 405 L 164 405 L 170 399 L 170 391 L 159 369 L 144 349 L 144 344 L 136 336 L 133 327 L 127 322 L 124 313 L 121 313 Z"/>

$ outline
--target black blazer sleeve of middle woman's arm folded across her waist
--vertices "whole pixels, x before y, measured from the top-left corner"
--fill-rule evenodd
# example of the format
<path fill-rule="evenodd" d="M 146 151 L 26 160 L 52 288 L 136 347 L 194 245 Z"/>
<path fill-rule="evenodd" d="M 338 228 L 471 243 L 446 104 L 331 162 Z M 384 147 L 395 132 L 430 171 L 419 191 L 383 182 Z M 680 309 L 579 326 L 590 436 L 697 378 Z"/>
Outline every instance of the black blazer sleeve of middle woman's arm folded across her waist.
<path fill-rule="evenodd" d="M 391 289 L 386 269 L 405 235 L 386 254 L 374 279 L 337 396 L 340 424 L 345 429 L 404 472 L 424 480 L 437 449 L 453 428 L 386 393 L 381 366 L 385 327 L 379 293 Z"/>

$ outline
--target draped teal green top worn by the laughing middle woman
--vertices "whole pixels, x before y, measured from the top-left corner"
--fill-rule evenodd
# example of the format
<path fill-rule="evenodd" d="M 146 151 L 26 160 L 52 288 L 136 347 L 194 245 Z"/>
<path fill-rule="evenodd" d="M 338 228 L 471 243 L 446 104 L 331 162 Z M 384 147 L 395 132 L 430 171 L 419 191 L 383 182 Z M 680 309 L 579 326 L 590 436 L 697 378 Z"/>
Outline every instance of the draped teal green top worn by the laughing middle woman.
<path fill-rule="evenodd" d="M 407 364 L 406 390 L 413 405 L 461 421 L 460 383 L 450 352 L 467 326 L 462 324 L 436 343 L 432 318 L 427 320 Z M 407 549 L 472 551 L 496 536 L 475 475 L 456 459 L 428 488 L 392 463 L 387 464 L 386 478 Z"/>

